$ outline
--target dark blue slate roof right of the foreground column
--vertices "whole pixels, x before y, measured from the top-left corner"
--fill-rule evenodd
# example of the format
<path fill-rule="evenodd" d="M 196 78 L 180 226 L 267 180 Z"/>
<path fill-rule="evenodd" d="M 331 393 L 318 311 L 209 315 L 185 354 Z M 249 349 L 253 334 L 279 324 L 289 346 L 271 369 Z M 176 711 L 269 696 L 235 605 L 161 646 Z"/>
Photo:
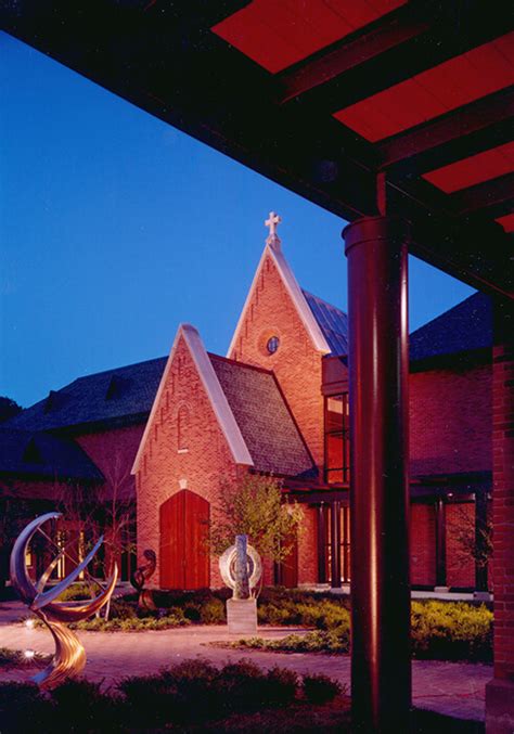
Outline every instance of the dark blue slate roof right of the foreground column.
<path fill-rule="evenodd" d="M 492 346 L 492 304 L 475 293 L 410 335 L 410 360 Z"/>

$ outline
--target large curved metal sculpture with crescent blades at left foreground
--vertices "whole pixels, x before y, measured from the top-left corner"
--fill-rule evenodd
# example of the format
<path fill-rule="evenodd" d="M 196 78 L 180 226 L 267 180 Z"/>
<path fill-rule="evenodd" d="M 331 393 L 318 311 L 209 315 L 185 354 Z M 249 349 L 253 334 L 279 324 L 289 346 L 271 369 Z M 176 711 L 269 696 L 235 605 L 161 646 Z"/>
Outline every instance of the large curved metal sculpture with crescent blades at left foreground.
<path fill-rule="evenodd" d="M 115 565 L 107 585 L 94 598 L 88 600 L 83 604 L 55 601 L 92 561 L 103 542 L 102 536 L 92 551 L 88 553 L 86 558 L 63 581 L 44 591 L 48 579 L 60 558 L 65 555 L 66 549 L 63 549 L 52 561 L 38 583 L 36 585 L 33 583 L 25 563 L 28 544 L 41 525 L 59 517 L 61 517 L 61 513 L 52 512 L 41 515 L 29 523 L 14 543 L 10 564 L 12 584 L 17 589 L 22 601 L 25 602 L 28 608 L 47 624 L 55 642 L 55 655 L 52 662 L 33 679 L 35 683 L 46 688 L 52 688 L 62 683 L 66 678 L 77 675 L 86 665 L 86 651 L 82 644 L 72 630 L 64 627 L 63 622 L 78 622 L 99 611 L 108 602 L 118 578 L 118 569 Z"/>

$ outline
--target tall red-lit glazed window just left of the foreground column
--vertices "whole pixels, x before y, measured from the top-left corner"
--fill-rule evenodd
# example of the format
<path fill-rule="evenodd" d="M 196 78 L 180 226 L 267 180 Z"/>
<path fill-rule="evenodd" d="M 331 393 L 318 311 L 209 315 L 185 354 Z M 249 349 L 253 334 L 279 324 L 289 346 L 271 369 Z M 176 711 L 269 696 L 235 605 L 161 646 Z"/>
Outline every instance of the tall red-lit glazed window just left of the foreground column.
<path fill-rule="evenodd" d="M 348 392 L 325 398 L 324 409 L 325 480 L 348 484 L 350 480 Z"/>

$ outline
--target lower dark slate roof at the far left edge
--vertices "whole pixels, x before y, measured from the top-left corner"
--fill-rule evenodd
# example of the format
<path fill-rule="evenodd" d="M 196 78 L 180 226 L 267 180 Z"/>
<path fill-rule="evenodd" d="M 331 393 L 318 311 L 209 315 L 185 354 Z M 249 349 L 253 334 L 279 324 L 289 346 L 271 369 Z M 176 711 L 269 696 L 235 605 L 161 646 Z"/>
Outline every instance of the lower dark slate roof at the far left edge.
<path fill-rule="evenodd" d="M 0 472 L 60 479 L 104 479 L 73 440 L 4 427 L 0 427 Z"/>

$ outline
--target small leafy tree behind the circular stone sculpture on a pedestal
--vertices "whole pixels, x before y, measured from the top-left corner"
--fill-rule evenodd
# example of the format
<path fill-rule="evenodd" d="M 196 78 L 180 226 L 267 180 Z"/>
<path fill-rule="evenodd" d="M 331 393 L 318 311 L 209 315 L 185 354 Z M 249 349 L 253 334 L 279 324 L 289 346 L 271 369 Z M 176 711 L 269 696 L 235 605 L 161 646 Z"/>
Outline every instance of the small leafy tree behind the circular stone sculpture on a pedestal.
<path fill-rule="evenodd" d="M 210 548 L 220 555 L 233 544 L 235 536 L 247 536 L 262 557 L 282 563 L 293 549 L 303 519 L 300 505 L 284 503 L 279 479 L 245 474 L 237 481 L 220 484 L 210 526 Z"/>

